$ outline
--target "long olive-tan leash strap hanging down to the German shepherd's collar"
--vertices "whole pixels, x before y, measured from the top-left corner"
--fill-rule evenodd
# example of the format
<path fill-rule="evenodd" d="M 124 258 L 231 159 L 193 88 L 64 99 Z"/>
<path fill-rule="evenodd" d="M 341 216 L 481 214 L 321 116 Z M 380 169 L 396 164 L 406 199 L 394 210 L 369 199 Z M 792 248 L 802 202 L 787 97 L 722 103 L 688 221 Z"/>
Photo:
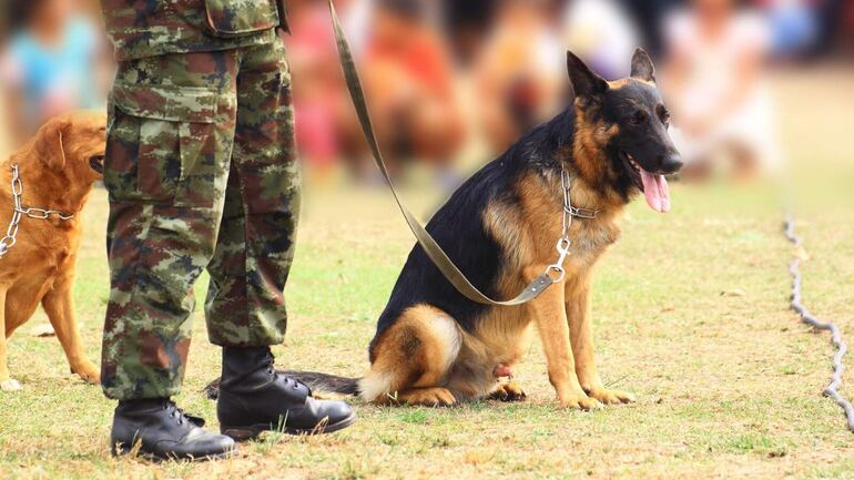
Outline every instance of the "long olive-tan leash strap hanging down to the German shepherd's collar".
<path fill-rule="evenodd" d="M 392 177 L 388 175 L 385 162 L 383 161 L 383 154 L 379 152 L 379 146 L 377 145 L 377 140 L 374 135 L 374 126 L 370 123 L 370 115 L 368 114 L 368 109 L 365 103 L 365 94 L 362 90 L 362 81 L 359 80 L 358 72 L 356 72 L 356 64 L 353 61 L 349 43 L 347 43 L 347 39 L 344 37 L 344 29 L 342 28 L 340 20 L 338 20 L 338 14 L 335 12 L 335 6 L 333 6 L 332 0 L 329 1 L 329 11 L 332 12 L 332 22 L 335 30 L 335 41 L 338 45 L 338 59 L 340 60 L 340 65 L 344 70 L 344 76 L 347 81 L 347 90 L 349 91 L 350 99 L 353 100 L 353 105 L 356 108 L 356 114 L 358 115 L 359 124 L 362 125 L 362 132 L 365 135 L 368 147 L 370 147 L 370 153 L 374 156 L 374 162 L 376 163 L 377 168 L 379 168 L 379 171 L 383 173 L 383 177 L 388 185 L 388 190 L 392 191 L 392 195 L 394 195 L 395 202 L 400 208 L 400 213 L 404 214 L 404 218 L 409 225 L 409 229 L 411 229 L 413 234 L 415 234 L 415 238 L 418 241 L 418 244 L 421 246 L 421 248 L 424 248 L 424 252 L 427 254 L 430 261 L 433 261 L 434 265 L 436 265 L 436 268 L 441 272 L 445 278 L 447 278 L 447 280 L 454 285 L 454 288 L 456 288 L 457 292 L 472 302 L 485 305 L 511 306 L 521 305 L 537 298 L 537 296 L 545 292 L 549 285 L 555 283 L 552 277 L 549 276 L 551 269 L 547 269 L 540 276 L 535 278 L 533 282 L 528 284 L 528 286 L 526 286 L 525 289 L 521 290 L 521 293 L 519 293 L 519 295 L 517 295 L 515 298 L 505 302 L 494 300 L 484 295 L 484 293 L 480 292 L 477 287 L 471 285 L 471 282 L 466 278 L 462 272 L 460 272 L 454 262 L 451 262 L 445 251 L 441 249 L 439 244 L 436 243 L 427 229 L 421 226 L 415 215 L 409 212 L 409 208 L 406 207 L 404 202 L 400 200 L 400 196 L 397 194 L 397 191 L 395 190 Z"/>

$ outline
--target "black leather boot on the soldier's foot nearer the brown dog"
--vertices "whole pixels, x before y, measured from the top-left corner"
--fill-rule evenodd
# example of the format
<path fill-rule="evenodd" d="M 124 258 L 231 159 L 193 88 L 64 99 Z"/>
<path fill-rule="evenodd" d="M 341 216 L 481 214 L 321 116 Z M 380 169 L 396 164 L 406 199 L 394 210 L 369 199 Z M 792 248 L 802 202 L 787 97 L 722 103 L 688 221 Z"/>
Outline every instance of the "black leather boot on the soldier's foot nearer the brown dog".
<path fill-rule="evenodd" d="M 209 460 L 235 451 L 234 440 L 202 428 L 204 419 L 184 413 L 167 398 L 120 401 L 113 416 L 113 456 L 132 451 L 160 460 Z"/>

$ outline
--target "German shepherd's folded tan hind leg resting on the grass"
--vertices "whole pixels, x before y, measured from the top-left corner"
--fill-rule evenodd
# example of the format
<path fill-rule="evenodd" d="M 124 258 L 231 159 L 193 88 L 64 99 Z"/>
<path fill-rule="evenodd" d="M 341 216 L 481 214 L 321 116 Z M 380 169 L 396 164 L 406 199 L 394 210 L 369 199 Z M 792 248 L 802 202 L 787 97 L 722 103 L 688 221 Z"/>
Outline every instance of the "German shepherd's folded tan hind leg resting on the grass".
<path fill-rule="evenodd" d="M 456 404 L 444 380 L 461 341 L 446 313 L 427 305 L 408 308 L 375 343 L 374 361 L 359 381 L 362 397 L 374 404 Z"/>

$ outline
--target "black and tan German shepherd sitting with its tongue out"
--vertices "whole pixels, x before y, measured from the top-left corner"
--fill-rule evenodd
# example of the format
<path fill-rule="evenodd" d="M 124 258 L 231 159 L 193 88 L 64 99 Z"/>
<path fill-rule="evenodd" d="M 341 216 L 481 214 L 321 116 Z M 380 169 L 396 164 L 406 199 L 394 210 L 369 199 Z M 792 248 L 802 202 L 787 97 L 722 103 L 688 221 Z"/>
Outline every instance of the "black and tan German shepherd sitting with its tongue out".
<path fill-rule="evenodd" d="M 629 392 L 606 388 L 593 361 L 592 270 L 619 237 L 618 221 L 637 193 L 652 210 L 669 211 L 664 175 L 682 164 L 643 50 L 632 58 L 631 76 L 614 82 L 571 52 L 567 60 L 572 104 L 471 176 L 427 225 L 475 285 L 507 298 L 557 257 L 566 168 L 572 205 L 599 212 L 572 222 L 562 282 L 525 305 L 486 306 L 459 294 L 416 245 L 379 316 L 365 377 L 293 375 L 316 390 L 357 392 L 375 404 L 521 399 L 517 385 L 499 380 L 510 376 L 536 326 L 561 407 L 633 401 Z"/>

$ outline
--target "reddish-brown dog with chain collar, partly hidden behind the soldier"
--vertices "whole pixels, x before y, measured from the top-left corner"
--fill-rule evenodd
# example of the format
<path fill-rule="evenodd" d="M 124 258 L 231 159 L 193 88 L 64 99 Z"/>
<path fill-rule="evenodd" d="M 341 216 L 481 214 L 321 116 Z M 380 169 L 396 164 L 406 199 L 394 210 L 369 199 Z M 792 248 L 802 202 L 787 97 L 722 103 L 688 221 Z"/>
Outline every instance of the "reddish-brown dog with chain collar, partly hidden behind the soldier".
<path fill-rule="evenodd" d="M 71 288 L 80 245 L 79 214 L 103 172 L 106 118 L 73 112 L 57 116 L 0 165 L 0 232 L 13 223 L 16 192 L 21 213 L 17 234 L 0 252 L 0 388 L 19 390 L 9 375 L 7 339 L 41 305 L 65 350 L 71 371 L 99 382 L 100 370 L 85 358 Z M 13 184 L 17 166 L 20 183 Z M 14 186 L 13 186 L 14 185 Z M 48 213 L 42 211 L 57 211 Z M 71 218 L 64 217 L 73 215 Z M 14 226 L 9 233 L 14 232 Z"/>

